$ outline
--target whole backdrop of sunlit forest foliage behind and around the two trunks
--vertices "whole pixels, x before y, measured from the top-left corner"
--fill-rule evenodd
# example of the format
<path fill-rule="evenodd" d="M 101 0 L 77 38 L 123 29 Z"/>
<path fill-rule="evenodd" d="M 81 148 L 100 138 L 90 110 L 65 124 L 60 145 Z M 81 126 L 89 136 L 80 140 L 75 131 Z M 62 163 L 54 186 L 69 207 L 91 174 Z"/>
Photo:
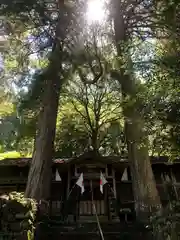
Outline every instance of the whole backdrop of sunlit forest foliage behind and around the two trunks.
<path fill-rule="evenodd" d="M 156 2 L 153 4 L 155 9 Z M 158 18 L 156 16 L 153 20 L 153 24 L 160 27 L 164 23 L 161 34 L 157 32 L 158 28 L 154 31 L 148 25 L 148 13 L 142 11 L 133 16 L 128 10 L 126 17 L 129 18 L 131 39 L 124 48 L 128 48 L 131 55 L 136 81 L 141 83 L 138 87 L 141 102 L 139 113 L 145 118 L 149 154 L 175 157 L 179 154 L 179 42 L 178 32 L 175 31 L 178 16 L 173 25 L 169 16 L 178 6 L 173 2 L 165 5 L 162 1 L 161 4 Z M 32 154 L 43 91 L 43 73 L 56 31 L 54 7 L 53 1 L 34 5 L 28 1 L 26 4 L 16 1 L 2 4 L 1 153 L 18 151 L 23 155 Z M 122 106 L 131 103 L 128 99 L 122 99 L 121 87 L 112 80 L 111 69 L 115 70 L 119 64 L 125 66 L 126 63 L 124 59 L 116 58 L 109 7 L 109 1 L 89 1 L 88 4 L 67 1 L 67 19 L 71 23 L 67 23 L 68 33 L 63 39 L 64 84 L 56 122 L 56 156 L 72 156 L 75 152 L 91 148 L 93 144 L 97 144 L 103 154 L 127 152 Z M 131 10 L 136 12 L 138 6 Z M 149 29 L 141 22 L 144 14 L 147 14 Z M 137 29 L 136 22 L 142 25 L 141 30 Z M 95 85 L 83 82 L 84 78 L 91 81 L 95 72 L 101 74 L 101 68 L 103 74 Z M 104 112 L 103 116 L 98 111 Z M 96 143 L 93 143 L 92 137 L 96 138 L 93 140 Z"/>

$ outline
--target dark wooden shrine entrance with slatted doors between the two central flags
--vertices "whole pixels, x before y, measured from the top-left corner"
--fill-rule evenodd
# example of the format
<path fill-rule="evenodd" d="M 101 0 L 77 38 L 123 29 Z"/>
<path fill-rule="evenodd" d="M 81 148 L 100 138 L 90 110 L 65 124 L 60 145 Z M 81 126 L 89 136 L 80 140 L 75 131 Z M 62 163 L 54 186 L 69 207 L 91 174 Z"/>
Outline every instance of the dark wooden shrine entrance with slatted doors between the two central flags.
<path fill-rule="evenodd" d="M 103 184 L 100 191 L 101 173 L 108 184 Z M 83 174 L 83 193 L 81 185 L 77 184 Z M 67 179 L 68 215 L 74 216 L 75 221 L 111 221 L 112 195 L 115 196 L 115 177 L 111 165 L 104 163 L 78 163 L 72 165 Z"/>

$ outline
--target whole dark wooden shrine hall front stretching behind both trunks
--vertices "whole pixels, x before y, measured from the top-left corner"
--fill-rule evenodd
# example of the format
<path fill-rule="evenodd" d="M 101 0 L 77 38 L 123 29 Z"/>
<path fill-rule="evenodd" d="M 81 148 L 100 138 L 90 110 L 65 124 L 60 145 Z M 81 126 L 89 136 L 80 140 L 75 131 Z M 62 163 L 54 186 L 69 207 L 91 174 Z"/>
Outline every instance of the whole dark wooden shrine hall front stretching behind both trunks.
<path fill-rule="evenodd" d="M 30 158 L 0 161 L 0 195 L 12 191 L 24 192 L 30 163 Z M 180 199 L 180 160 L 170 164 L 166 157 L 151 157 L 151 163 L 162 204 Z M 103 193 L 100 191 L 100 172 L 108 181 Z M 76 185 L 81 173 L 84 178 L 83 194 Z M 131 218 L 134 198 L 129 162 L 118 156 L 103 157 L 89 153 L 71 159 L 55 159 L 50 196 L 52 215 L 60 215 L 63 210 L 75 221 L 92 220 L 95 215 L 93 196 L 96 213 L 102 220 L 116 221 L 123 209 L 131 213 Z M 116 207 L 112 202 L 116 203 Z"/>

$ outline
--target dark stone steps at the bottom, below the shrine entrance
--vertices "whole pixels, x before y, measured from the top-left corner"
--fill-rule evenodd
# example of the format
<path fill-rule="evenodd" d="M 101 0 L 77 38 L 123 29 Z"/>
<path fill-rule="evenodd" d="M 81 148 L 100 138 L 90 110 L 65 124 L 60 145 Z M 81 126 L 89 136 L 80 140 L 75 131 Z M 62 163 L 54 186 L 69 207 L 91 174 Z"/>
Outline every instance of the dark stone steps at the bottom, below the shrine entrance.
<path fill-rule="evenodd" d="M 150 240 L 150 234 L 145 228 L 136 224 L 101 223 L 104 240 Z M 101 239 L 97 223 L 84 224 L 38 224 L 35 240 L 99 240 Z"/>

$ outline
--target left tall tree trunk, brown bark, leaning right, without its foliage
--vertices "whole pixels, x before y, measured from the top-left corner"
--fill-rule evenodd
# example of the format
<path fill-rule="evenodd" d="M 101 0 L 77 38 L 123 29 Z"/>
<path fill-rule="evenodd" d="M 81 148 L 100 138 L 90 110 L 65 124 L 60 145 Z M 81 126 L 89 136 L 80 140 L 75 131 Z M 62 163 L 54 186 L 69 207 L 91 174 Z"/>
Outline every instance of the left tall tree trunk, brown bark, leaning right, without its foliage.
<path fill-rule="evenodd" d="M 59 9 L 61 12 L 63 7 L 64 1 L 59 0 Z M 56 38 L 49 59 L 49 66 L 43 74 L 44 89 L 42 89 L 42 108 L 40 109 L 38 131 L 25 191 L 26 197 L 36 200 L 48 200 L 50 194 L 56 118 L 62 85 L 62 79 L 60 78 L 62 73 L 62 49 L 60 39 L 63 40 L 63 34 L 65 34 L 65 31 L 61 31 L 62 25 L 63 21 L 61 16 L 61 22 L 58 21 L 57 23 Z M 65 29 L 64 25 L 63 29 Z"/>

